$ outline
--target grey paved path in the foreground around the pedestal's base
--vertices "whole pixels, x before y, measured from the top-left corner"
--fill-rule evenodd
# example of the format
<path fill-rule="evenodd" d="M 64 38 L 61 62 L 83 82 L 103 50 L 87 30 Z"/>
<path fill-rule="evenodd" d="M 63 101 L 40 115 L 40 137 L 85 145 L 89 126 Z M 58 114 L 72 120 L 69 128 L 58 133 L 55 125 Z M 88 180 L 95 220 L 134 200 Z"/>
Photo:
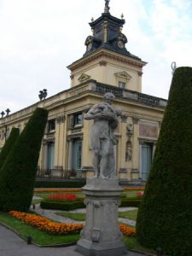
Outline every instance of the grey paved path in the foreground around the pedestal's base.
<path fill-rule="evenodd" d="M 27 245 L 15 233 L 0 224 L 0 255 L 1 256 L 82 256 L 71 247 L 37 247 Z M 143 256 L 143 253 L 128 252 L 125 256 Z M 108 255 L 110 256 L 110 255 Z M 118 255 L 117 255 L 118 256 Z"/>

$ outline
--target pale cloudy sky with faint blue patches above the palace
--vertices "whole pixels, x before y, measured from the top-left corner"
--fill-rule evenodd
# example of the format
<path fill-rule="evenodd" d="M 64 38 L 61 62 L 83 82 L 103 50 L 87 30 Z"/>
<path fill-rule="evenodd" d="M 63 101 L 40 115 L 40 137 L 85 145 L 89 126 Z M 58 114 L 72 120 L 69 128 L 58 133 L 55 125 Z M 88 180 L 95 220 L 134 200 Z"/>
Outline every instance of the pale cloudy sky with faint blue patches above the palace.
<path fill-rule="evenodd" d="M 104 0 L 0 0 L 0 112 L 38 102 L 70 87 L 67 66 L 82 57 L 91 17 Z M 168 97 L 172 61 L 192 66 L 192 0 L 111 0 L 125 16 L 126 48 L 147 61 L 143 93 Z"/>

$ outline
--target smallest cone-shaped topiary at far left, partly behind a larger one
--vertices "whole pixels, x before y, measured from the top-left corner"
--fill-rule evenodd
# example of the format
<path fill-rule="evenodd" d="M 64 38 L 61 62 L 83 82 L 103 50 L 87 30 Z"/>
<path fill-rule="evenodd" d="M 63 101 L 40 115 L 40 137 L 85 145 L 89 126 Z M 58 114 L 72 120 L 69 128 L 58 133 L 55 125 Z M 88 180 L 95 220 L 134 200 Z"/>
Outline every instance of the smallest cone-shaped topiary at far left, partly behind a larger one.
<path fill-rule="evenodd" d="M 19 128 L 12 128 L 10 135 L 6 142 L 3 145 L 3 148 L 0 152 L 0 168 L 3 166 L 4 160 L 8 156 L 11 148 L 13 148 L 16 139 L 20 136 L 20 129 Z"/>

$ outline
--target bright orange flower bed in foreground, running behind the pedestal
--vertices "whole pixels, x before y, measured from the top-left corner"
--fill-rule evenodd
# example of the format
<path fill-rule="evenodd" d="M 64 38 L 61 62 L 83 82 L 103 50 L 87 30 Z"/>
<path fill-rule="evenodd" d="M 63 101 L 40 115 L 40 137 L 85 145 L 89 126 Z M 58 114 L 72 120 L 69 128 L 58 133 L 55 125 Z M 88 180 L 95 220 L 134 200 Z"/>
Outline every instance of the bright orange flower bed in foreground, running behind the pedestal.
<path fill-rule="evenodd" d="M 26 224 L 30 224 L 38 230 L 44 230 L 54 235 L 77 234 L 83 229 L 83 224 L 61 224 L 55 223 L 48 218 L 44 218 L 32 213 L 10 211 L 9 215 L 20 219 Z M 119 224 L 119 230 L 124 236 L 136 236 L 136 230 L 125 224 Z"/>

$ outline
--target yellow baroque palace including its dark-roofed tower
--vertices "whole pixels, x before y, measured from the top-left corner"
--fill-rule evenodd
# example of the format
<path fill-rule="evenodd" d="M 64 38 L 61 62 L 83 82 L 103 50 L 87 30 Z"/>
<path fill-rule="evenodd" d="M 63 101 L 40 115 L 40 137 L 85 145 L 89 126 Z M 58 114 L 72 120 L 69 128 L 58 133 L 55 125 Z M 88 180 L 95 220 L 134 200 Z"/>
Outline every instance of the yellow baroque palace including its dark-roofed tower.
<path fill-rule="evenodd" d="M 115 131 L 116 172 L 120 180 L 146 180 L 166 100 L 142 93 L 143 66 L 147 63 L 126 49 L 125 20 L 114 17 L 106 2 L 101 17 L 91 20 L 92 35 L 85 39 L 85 53 L 67 68 L 71 86 L 55 96 L 3 116 L 0 148 L 12 127 L 25 127 L 36 108 L 49 110 L 38 163 L 38 176 L 91 177 L 90 127 L 84 119 L 106 92 L 115 96 L 113 108 L 122 109 Z M 70 47 L 70 46 L 69 46 Z"/>

